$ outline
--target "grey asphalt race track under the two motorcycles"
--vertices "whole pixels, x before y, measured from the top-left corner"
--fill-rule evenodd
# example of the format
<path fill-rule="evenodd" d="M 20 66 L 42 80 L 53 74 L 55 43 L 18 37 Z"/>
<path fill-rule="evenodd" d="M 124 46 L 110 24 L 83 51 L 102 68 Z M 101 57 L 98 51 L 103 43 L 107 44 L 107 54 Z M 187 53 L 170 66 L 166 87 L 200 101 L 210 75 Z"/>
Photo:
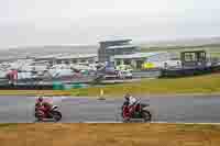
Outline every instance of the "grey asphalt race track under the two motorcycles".
<path fill-rule="evenodd" d="M 220 97 L 142 97 L 150 103 L 153 122 L 220 123 Z M 59 106 L 62 123 L 121 122 L 123 99 L 48 98 Z M 0 97 L 0 123 L 33 123 L 34 97 Z"/>

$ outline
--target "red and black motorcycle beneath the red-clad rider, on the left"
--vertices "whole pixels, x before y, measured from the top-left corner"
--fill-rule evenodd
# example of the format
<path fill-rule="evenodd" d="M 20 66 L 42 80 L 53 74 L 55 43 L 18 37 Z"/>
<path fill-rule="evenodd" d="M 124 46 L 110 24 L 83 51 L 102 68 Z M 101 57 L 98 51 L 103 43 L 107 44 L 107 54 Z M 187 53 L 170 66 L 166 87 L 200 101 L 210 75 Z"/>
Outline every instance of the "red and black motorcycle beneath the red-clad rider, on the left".
<path fill-rule="evenodd" d="M 62 120 L 62 113 L 58 111 L 57 105 L 53 105 L 47 113 L 41 108 L 35 108 L 35 117 L 37 121 L 54 120 L 58 122 Z"/>

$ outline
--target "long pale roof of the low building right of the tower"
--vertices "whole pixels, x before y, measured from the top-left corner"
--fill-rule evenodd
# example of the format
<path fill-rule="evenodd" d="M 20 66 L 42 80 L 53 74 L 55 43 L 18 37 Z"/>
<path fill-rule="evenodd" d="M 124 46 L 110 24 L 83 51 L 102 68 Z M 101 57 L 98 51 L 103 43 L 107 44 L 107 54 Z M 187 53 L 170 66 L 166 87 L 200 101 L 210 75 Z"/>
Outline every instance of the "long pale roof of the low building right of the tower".
<path fill-rule="evenodd" d="M 151 56 L 164 54 L 167 52 L 154 52 L 154 53 L 135 53 L 135 54 L 129 54 L 129 55 L 114 55 L 114 59 L 130 59 L 130 58 L 147 58 Z"/>

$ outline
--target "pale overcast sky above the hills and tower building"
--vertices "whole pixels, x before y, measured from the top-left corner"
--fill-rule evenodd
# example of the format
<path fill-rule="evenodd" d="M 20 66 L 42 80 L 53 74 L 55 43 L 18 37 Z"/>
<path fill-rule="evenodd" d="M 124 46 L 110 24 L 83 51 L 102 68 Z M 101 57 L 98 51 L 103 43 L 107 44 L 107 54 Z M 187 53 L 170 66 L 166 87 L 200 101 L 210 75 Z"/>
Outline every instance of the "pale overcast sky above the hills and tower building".
<path fill-rule="evenodd" d="M 0 0 L 0 48 L 219 34 L 219 0 Z"/>

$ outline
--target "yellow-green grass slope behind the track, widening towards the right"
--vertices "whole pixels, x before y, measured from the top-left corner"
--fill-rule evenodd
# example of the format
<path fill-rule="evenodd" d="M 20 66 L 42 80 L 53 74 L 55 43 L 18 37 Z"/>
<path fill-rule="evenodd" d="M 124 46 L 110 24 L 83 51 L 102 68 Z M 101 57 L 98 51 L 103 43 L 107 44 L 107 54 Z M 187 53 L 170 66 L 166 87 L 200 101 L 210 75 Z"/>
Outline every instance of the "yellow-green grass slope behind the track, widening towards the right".
<path fill-rule="evenodd" d="M 98 97 L 100 90 L 106 97 L 132 94 L 172 94 L 172 93 L 213 93 L 220 92 L 220 75 L 206 75 L 173 79 L 143 79 L 140 82 L 122 83 L 87 89 L 73 89 L 72 94 L 78 97 Z"/>

